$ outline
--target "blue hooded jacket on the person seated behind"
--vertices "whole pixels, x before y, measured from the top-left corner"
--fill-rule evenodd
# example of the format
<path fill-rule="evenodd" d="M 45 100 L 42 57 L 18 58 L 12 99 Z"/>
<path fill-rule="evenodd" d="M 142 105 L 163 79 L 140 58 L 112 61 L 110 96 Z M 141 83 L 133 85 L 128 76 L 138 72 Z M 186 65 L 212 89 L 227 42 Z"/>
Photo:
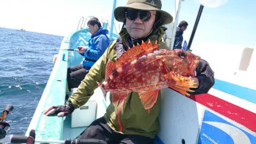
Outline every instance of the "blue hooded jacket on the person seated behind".
<path fill-rule="evenodd" d="M 107 34 L 108 29 L 100 27 L 99 30 L 91 36 L 88 48 L 86 48 L 84 52 L 85 58 L 83 61 L 83 67 L 92 67 L 106 51 L 110 44 Z"/>

